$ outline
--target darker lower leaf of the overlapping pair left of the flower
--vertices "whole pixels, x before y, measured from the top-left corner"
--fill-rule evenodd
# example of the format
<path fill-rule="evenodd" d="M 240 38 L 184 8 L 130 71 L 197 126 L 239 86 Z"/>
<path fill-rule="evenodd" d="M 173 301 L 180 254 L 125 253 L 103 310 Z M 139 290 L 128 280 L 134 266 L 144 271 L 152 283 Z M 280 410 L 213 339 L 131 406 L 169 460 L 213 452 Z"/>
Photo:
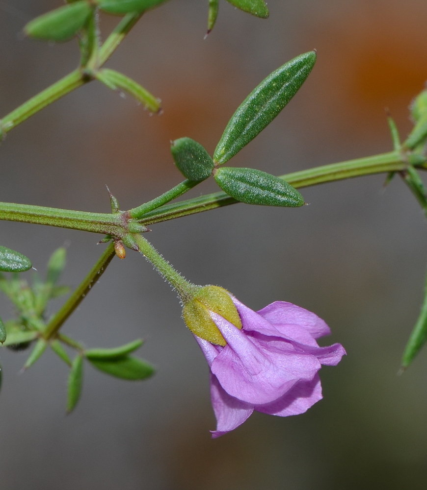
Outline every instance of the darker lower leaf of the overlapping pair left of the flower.
<path fill-rule="evenodd" d="M 154 374 L 154 368 L 151 364 L 136 357 L 122 356 L 110 360 L 88 360 L 95 368 L 121 379 L 139 381 Z"/>

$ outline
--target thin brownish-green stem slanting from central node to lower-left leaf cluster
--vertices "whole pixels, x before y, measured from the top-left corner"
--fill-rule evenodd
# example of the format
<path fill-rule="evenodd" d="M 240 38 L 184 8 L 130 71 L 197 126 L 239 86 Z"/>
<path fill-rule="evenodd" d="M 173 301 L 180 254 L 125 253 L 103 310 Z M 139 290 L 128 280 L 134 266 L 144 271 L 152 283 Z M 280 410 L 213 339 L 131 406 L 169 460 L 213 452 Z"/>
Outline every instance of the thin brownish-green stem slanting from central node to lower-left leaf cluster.
<path fill-rule="evenodd" d="M 111 262 L 115 255 L 114 245 L 107 246 L 105 252 L 101 255 L 98 262 L 93 266 L 87 276 L 80 283 L 79 287 L 63 304 L 62 308 L 56 313 L 53 319 L 48 323 L 46 330 L 43 333 L 43 337 L 46 340 L 52 339 L 63 323 L 74 312 L 74 310 L 80 305 L 83 298 L 91 290 L 92 286 L 102 276 L 107 269 L 108 264 Z"/>

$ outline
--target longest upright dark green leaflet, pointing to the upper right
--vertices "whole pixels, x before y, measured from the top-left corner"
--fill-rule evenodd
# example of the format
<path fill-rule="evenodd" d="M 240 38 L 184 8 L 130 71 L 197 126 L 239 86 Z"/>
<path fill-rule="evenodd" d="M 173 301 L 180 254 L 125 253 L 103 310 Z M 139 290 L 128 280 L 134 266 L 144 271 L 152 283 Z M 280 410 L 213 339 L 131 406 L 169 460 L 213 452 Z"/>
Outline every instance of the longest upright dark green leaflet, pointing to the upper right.
<path fill-rule="evenodd" d="M 233 114 L 215 148 L 213 161 L 227 162 L 271 123 L 294 97 L 315 62 L 316 53 L 310 51 L 268 75 Z"/>

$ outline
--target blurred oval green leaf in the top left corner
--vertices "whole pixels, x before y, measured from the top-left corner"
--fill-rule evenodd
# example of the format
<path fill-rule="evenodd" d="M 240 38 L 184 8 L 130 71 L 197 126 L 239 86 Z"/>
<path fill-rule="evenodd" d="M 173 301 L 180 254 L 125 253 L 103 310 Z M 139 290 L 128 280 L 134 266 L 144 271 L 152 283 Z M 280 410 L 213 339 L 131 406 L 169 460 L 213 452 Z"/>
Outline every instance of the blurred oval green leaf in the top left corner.
<path fill-rule="evenodd" d="M 84 0 L 59 7 L 30 21 L 24 31 L 45 41 L 67 41 L 86 24 L 92 7 Z"/>

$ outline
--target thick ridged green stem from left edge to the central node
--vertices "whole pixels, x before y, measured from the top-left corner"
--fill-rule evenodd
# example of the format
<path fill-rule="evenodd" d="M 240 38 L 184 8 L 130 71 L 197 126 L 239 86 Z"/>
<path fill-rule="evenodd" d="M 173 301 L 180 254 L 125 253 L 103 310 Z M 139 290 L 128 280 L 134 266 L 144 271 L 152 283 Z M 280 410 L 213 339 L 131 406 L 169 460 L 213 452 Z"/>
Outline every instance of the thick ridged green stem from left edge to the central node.
<path fill-rule="evenodd" d="M 105 235 L 122 236 L 125 233 L 124 226 L 126 223 L 121 221 L 123 216 L 123 213 L 87 213 L 85 211 L 0 202 L 0 220 L 46 224 Z"/>

